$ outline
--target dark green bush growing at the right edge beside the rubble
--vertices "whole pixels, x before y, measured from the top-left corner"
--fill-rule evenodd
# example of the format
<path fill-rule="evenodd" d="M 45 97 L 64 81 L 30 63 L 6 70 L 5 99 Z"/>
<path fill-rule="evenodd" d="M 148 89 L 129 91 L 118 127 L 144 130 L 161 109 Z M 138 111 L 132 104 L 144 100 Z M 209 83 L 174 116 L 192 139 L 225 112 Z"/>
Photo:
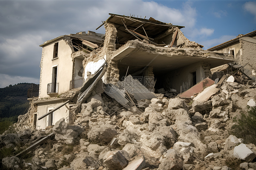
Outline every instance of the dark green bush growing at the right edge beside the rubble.
<path fill-rule="evenodd" d="M 241 113 L 241 116 L 234 117 L 230 134 L 244 139 L 244 143 L 256 145 L 256 106 L 248 107 L 247 114 Z"/>

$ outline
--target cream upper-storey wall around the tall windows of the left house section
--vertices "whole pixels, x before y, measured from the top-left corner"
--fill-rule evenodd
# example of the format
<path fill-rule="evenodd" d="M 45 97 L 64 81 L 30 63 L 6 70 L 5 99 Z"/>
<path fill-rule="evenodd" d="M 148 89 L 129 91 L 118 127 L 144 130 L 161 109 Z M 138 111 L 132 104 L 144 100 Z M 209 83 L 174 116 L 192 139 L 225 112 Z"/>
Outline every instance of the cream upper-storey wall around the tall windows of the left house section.
<path fill-rule="evenodd" d="M 59 42 L 58 57 L 53 59 L 54 43 Z M 48 98 L 47 84 L 52 81 L 52 67 L 58 66 L 57 70 L 57 83 L 59 83 L 59 94 L 69 90 L 69 83 L 72 80 L 72 50 L 62 40 L 52 42 L 43 47 L 43 64 L 42 73 L 40 75 L 40 94 L 39 98 Z"/>

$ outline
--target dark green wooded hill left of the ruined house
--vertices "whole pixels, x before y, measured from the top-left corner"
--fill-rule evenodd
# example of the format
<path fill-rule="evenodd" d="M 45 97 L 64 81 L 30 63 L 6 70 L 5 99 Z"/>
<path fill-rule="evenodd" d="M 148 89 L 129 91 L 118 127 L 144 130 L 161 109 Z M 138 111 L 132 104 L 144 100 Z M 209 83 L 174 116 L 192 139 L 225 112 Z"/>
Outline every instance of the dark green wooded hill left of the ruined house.
<path fill-rule="evenodd" d="M 3 117 L 22 115 L 28 109 L 27 90 L 30 87 L 31 83 L 18 83 L 0 88 L 0 121 Z"/>

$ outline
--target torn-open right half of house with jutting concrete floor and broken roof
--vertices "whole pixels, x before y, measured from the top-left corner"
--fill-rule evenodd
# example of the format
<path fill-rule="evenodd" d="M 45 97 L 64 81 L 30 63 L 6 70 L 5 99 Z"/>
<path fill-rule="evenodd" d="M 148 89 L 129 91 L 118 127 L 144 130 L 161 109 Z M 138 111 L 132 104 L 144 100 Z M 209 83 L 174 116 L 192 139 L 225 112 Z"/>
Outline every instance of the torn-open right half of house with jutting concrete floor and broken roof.
<path fill-rule="evenodd" d="M 102 50 L 110 63 L 107 82 L 123 80 L 129 66 L 132 76 L 154 77 L 154 88 L 181 93 L 210 77 L 210 68 L 233 61 L 231 55 L 205 51 L 189 41 L 180 31 L 183 26 L 152 17 L 109 15 L 102 24 L 106 28 Z"/>

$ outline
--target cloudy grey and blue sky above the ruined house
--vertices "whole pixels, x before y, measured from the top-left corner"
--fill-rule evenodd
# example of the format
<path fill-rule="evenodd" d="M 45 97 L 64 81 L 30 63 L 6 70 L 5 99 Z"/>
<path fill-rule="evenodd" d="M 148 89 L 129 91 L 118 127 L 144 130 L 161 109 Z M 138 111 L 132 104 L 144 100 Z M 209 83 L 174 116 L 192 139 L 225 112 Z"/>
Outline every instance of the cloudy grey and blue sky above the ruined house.
<path fill-rule="evenodd" d="M 108 13 L 185 26 L 185 36 L 205 50 L 256 29 L 256 1 L 0 0 L 0 88 L 39 84 L 39 45 L 60 35 L 96 31 Z M 96 32 L 104 34 L 104 27 Z"/>

